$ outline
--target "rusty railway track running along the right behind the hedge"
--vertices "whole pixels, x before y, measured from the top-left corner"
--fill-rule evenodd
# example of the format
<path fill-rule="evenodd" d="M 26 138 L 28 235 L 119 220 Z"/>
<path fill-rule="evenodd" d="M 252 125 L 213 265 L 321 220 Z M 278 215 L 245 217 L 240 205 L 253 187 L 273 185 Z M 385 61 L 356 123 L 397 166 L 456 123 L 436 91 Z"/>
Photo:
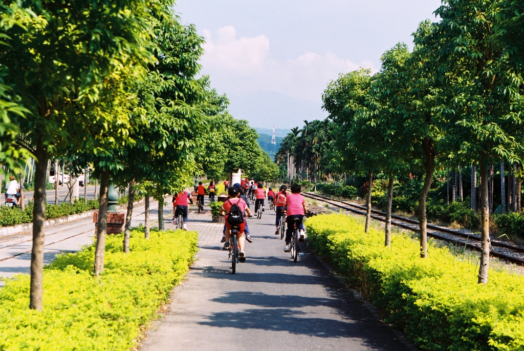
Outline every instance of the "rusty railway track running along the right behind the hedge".
<path fill-rule="evenodd" d="M 323 201 L 324 203 L 353 212 L 358 215 L 366 215 L 366 207 L 361 205 L 348 203 L 347 201 L 333 200 L 329 197 L 309 192 L 302 192 L 302 195 L 314 200 Z M 386 221 L 386 214 L 382 211 L 372 210 L 371 217 L 382 222 Z M 419 232 L 418 220 L 391 215 L 391 225 Z M 428 224 L 427 228 L 429 237 L 440 239 L 446 242 L 453 242 L 455 246 L 462 246 L 471 250 L 481 251 L 481 237 L 474 233 L 467 232 L 465 230 L 453 230 L 433 224 Z M 511 263 L 524 265 L 524 248 L 504 241 L 492 240 L 490 256 L 501 258 Z"/>

